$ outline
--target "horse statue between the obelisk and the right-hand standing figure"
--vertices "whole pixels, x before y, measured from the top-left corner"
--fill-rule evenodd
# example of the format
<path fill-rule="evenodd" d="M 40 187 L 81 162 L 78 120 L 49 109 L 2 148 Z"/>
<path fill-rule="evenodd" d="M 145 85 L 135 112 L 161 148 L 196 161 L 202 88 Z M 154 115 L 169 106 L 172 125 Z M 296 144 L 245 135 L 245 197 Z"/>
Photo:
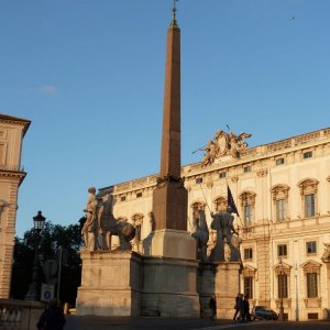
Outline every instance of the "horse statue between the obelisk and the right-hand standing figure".
<path fill-rule="evenodd" d="M 208 258 L 207 248 L 209 241 L 209 229 L 204 210 L 199 210 L 199 217 L 196 217 L 194 222 L 195 231 L 193 232 L 191 237 L 196 240 L 197 258 L 206 262 Z"/>

